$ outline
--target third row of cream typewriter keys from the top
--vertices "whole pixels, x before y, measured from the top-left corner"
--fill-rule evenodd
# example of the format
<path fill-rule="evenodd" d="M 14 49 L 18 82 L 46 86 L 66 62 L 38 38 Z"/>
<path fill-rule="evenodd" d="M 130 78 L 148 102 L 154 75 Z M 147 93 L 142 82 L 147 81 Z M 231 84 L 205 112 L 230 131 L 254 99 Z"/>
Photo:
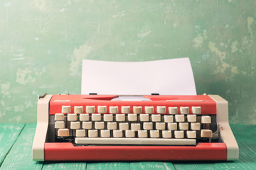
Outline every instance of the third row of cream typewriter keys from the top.
<path fill-rule="evenodd" d="M 116 122 L 107 122 L 105 126 L 105 122 L 82 122 L 82 129 L 85 130 L 201 130 L 201 123 L 151 123 L 144 122 L 141 123 L 116 123 Z M 64 121 L 56 121 L 55 129 L 63 129 L 65 128 Z M 71 122 L 70 129 L 71 130 L 79 130 L 80 122 Z"/>

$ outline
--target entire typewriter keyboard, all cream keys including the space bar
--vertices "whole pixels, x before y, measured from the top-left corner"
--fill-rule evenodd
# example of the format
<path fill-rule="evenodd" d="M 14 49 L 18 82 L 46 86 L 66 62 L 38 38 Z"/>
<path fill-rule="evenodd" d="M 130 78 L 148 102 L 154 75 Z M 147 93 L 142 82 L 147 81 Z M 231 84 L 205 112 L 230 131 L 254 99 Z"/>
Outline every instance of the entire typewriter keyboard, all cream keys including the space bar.
<path fill-rule="evenodd" d="M 210 141 L 217 133 L 215 115 L 201 115 L 200 107 L 122 106 L 63 106 L 63 113 L 52 115 L 55 142 L 73 142 L 75 145 L 196 145 Z M 178 114 L 178 109 L 181 114 Z M 215 133 L 214 133 L 215 132 Z"/>

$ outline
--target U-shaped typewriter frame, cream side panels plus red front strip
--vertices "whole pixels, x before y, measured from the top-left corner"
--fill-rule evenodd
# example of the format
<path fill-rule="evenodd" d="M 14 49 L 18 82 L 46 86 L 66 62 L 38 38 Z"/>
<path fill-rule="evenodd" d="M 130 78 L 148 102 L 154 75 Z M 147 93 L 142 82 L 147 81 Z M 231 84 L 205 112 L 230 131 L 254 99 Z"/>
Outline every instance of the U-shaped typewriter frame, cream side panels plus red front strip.
<path fill-rule="evenodd" d="M 238 144 L 228 124 L 228 101 L 209 95 L 216 102 L 221 142 L 199 142 L 196 146 L 77 146 L 72 143 L 46 142 L 49 103 L 53 95 L 38 99 L 38 118 L 33 141 L 36 161 L 169 161 L 235 160 Z"/>

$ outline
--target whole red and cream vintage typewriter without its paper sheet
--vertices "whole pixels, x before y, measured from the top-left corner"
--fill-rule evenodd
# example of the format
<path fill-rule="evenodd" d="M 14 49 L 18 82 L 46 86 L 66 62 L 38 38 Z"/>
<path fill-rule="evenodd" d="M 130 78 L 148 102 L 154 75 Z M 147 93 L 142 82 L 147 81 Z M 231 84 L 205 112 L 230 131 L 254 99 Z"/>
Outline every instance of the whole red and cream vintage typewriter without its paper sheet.
<path fill-rule="evenodd" d="M 235 160 L 218 95 L 50 95 L 38 99 L 36 161 Z"/>

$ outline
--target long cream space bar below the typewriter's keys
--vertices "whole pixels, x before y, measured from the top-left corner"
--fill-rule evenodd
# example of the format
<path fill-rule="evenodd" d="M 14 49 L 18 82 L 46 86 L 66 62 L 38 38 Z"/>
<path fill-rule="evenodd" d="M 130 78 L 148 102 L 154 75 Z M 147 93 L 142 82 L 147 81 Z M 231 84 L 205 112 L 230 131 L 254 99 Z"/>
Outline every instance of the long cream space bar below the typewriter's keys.
<path fill-rule="evenodd" d="M 196 145 L 196 139 L 75 137 L 75 144 L 92 145 Z"/>

